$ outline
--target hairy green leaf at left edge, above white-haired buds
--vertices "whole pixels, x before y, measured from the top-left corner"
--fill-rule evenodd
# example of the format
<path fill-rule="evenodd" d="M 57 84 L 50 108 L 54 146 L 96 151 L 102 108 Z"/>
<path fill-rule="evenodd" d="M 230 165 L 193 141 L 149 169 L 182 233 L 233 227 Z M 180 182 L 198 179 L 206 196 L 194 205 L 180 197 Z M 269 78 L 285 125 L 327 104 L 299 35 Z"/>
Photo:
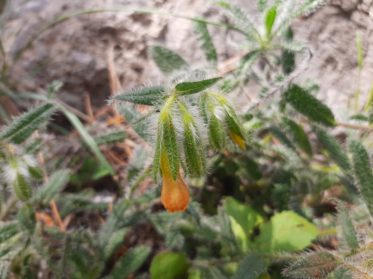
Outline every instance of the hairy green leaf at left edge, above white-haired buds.
<path fill-rule="evenodd" d="M 1 130 L 0 140 L 20 144 L 31 136 L 36 129 L 45 124 L 55 109 L 53 104 L 46 103 L 24 113 Z"/>

